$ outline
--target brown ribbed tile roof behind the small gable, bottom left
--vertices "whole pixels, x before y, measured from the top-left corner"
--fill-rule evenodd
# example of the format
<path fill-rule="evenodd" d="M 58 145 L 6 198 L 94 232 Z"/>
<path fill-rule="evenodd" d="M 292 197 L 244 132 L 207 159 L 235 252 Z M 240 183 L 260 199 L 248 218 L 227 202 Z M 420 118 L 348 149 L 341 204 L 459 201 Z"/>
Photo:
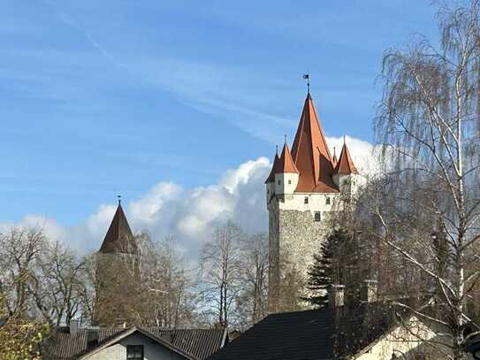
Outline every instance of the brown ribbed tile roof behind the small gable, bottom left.
<path fill-rule="evenodd" d="M 98 329 L 98 346 L 102 346 L 113 337 L 130 328 L 102 327 Z M 156 338 L 170 342 L 174 347 L 190 354 L 195 359 L 203 360 L 223 346 L 225 329 L 164 329 L 161 327 L 141 327 L 142 331 L 151 333 Z M 88 329 L 77 333 L 59 331 L 47 342 L 49 359 L 75 359 L 88 350 Z"/>

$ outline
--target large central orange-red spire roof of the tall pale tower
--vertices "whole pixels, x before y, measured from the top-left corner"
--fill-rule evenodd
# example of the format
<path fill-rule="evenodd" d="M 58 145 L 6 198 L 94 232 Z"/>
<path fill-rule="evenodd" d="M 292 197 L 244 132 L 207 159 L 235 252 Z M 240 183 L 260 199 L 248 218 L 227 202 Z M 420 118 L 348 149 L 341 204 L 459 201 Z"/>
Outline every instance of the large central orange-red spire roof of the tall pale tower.
<path fill-rule="evenodd" d="M 292 156 L 300 172 L 295 191 L 306 193 L 339 191 L 333 183 L 330 151 L 310 94 L 307 95 L 301 111 L 300 124 L 293 141 Z"/>

